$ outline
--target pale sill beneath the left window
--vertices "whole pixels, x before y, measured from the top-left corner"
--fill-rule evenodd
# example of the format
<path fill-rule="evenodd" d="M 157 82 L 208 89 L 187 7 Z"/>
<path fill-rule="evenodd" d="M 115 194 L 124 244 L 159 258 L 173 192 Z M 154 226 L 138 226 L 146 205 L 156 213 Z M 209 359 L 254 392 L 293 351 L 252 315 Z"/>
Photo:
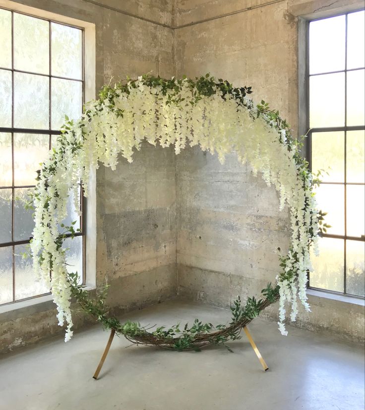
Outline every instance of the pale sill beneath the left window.
<path fill-rule="evenodd" d="M 85 286 L 85 290 L 94 289 L 92 286 Z M 56 309 L 51 294 L 39 296 L 33 299 L 20 300 L 0 306 L 0 323 L 10 322 L 36 313 L 47 312 Z"/>

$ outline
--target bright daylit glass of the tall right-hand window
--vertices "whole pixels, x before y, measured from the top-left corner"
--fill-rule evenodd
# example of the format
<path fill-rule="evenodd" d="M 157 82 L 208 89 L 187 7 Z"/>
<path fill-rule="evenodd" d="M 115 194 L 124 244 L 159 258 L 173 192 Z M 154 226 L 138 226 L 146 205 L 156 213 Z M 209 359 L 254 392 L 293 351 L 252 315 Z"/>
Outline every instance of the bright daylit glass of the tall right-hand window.
<path fill-rule="evenodd" d="M 364 10 L 309 23 L 310 163 L 324 170 L 319 209 L 332 227 L 319 240 L 309 286 L 364 296 Z"/>

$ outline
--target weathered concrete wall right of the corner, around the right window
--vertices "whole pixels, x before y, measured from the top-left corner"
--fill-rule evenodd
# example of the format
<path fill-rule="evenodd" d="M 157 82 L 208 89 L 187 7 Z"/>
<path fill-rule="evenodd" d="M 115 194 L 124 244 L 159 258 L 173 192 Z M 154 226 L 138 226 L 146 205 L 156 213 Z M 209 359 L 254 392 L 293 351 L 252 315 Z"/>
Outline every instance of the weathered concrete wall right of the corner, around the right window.
<path fill-rule="evenodd" d="M 266 2 L 178 1 L 176 23 L 184 27 L 174 33 L 176 74 L 210 72 L 252 86 L 253 99 L 279 109 L 297 135 L 297 16 L 356 1 Z M 253 8 L 236 13 L 247 7 Z M 248 165 L 239 166 L 232 154 L 222 166 L 188 148 L 177 158 L 177 199 L 180 295 L 227 307 L 275 280 L 275 249 L 284 252 L 289 244 L 288 212 L 279 214 L 274 188 L 254 178 Z M 312 313 L 301 311 L 296 326 L 364 340 L 363 306 L 314 295 L 309 302 Z M 277 320 L 277 310 L 270 307 L 266 317 Z"/>

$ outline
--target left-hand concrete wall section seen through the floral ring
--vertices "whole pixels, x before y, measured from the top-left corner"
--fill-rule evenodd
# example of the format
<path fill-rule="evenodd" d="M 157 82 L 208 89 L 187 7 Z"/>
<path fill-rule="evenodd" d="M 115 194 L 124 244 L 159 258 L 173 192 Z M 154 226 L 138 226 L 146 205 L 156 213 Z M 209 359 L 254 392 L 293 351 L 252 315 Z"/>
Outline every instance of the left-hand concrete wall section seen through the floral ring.
<path fill-rule="evenodd" d="M 97 282 L 108 275 L 122 308 L 176 294 L 175 152 L 143 142 L 133 158 L 97 180 Z"/>

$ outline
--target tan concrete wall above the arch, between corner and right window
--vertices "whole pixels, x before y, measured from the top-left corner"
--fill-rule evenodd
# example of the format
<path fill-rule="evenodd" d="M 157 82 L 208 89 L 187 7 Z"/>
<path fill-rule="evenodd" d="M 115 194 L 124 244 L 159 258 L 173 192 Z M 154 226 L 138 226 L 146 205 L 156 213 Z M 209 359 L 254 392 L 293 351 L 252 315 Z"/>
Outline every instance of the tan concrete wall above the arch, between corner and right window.
<path fill-rule="evenodd" d="M 264 1 L 179 1 L 179 25 L 254 6 Z M 297 125 L 297 25 L 281 1 L 262 8 L 181 28 L 176 31 L 177 75 L 210 72 L 234 85 L 252 86 Z"/>

